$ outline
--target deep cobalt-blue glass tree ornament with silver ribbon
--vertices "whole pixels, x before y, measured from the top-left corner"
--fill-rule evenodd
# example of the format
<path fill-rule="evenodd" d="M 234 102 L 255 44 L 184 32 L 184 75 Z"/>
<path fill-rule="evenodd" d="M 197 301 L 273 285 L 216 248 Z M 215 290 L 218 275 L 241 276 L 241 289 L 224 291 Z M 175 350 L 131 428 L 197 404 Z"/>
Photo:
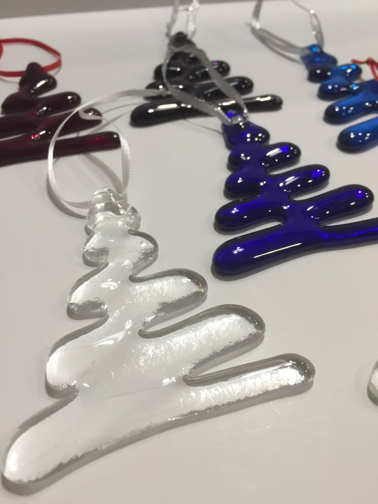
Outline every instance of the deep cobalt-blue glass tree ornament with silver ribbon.
<path fill-rule="evenodd" d="M 324 224 L 371 206 L 373 194 L 369 189 L 353 184 L 309 199 L 293 200 L 293 196 L 327 182 L 330 176 L 327 167 L 313 164 L 274 175 L 271 173 L 274 169 L 299 159 L 296 145 L 287 142 L 261 145 L 269 138 L 260 142 L 260 135 L 266 130 L 250 121 L 222 128 L 225 144 L 232 148 L 228 164 L 234 171 L 225 182 L 225 193 L 239 199 L 218 210 L 216 227 L 233 232 L 272 220 L 281 223 L 220 245 L 213 256 L 216 273 L 243 274 L 310 250 L 378 239 L 378 218 L 342 225 Z"/>

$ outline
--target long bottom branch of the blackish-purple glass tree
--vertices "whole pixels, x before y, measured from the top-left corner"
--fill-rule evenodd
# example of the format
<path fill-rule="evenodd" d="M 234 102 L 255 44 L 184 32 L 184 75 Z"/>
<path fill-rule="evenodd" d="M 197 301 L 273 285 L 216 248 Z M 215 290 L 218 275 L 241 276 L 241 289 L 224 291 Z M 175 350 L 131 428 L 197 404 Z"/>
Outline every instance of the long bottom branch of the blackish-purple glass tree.
<path fill-rule="evenodd" d="M 226 99 L 216 102 L 224 111 L 238 108 L 234 100 Z M 282 100 L 276 95 L 262 95 L 244 98 L 248 110 L 269 111 L 278 110 L 282 106 Z M 176 119 L 201 116 L 202 113 L 191 105 L 172 99 L 159 100 L 155 103 L 144 103 L 136 107 L 130 115 L 130 123 L 133 126 L 153 126 Z"/>

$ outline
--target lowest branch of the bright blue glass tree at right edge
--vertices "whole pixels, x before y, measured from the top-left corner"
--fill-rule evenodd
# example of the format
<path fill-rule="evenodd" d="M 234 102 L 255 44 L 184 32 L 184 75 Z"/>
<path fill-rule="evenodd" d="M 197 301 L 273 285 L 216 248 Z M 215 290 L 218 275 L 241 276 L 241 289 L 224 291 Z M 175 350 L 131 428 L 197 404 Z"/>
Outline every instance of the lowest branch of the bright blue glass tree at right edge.
<path fill-rule="evenodd" d="M 378 117 L 354 124 L 337 137 L 337 146 L 343 151 L 358 152 L 378 144 Z"/>

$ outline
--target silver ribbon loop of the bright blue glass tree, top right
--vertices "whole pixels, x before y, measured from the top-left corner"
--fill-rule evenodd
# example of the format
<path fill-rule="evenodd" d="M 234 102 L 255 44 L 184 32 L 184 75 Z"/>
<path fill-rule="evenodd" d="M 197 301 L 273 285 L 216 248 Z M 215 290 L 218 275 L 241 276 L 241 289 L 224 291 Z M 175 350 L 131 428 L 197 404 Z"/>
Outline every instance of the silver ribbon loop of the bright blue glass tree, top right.
<path fill-rule="evenodd" d="M 307 54 L 309 51 L 307 47 L 298 46 L 292 42 L 283 39 L 282 37 L 275 35 L 273 32 L 263 28 L 260 24 L 260 14 L 261 8 L 264 0 L 257 0 L 255 7 L 251 15 L 251 30 L 252 33 L 259 39 L 262 43 L 266 44 L 271 49 L 279 52 L 282 55 L 287 53 L 303 55 Z M 316 44 L 323 48 L 324 46 L 324 34 L 322 29 L 322 24 L 316 12 L 313 9 L 309 9 L 304 5 L 301 5 L 297 0 L 291 0 L 291 2 L 299 9 L 304 10 L 310 17 L 310 24 L 312 29 L 312 34 L 315 38 Z"/>

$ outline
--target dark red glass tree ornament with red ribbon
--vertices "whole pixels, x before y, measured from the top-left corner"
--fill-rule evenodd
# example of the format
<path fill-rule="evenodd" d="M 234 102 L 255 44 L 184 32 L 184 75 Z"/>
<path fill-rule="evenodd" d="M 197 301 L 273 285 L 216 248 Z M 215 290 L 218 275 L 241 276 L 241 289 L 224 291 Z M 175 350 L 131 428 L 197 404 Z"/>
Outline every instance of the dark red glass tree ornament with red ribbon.
<path fill-rule="evenodd" d="M 20 89 L 2 104 L 4 115 L 0 117 L 0 138 L 13 138 L 0 141 L 0 166 L 47 156 L 52 135 L 68 115 L 58 113 L 77 107 L 81 101 L 73 91 L 40 97 L 55 87 L 55 78 L 43 72 L 39 64 L 30 63 L 27 66 L 20 80 Z M 94 108 L 85 111 L 101 116 Z M 67 122 L 64 133 L 79 132 L 100 123 L 87 121 L 77 114 Z M 55 152 L 58 156 L 66 156 L 117 148 L 119 145 L 117 133 L 101 132 L 58 140 Z"/>

